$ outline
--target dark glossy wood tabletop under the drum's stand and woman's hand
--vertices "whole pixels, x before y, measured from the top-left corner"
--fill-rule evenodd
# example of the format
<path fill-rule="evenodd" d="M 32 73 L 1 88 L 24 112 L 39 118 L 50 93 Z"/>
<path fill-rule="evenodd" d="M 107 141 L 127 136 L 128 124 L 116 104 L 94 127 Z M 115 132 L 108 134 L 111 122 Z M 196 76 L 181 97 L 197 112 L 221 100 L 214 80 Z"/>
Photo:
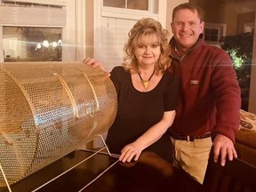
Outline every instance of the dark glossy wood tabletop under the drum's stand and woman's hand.
<path fill-rule="evenodd" d="M 76 150 L 68 156 L 44 167 L 28 177 L 11 185 L 12 192 L 56 192 L 80 191 L 92 180 L 83 192 L 164 192 L 164 191 L 207 191 L 202 185 L 191 179 L 185 172 L 176 170 L 154 153 L 144 152 L 140 161 L 122 164 L 116 157 L 108 154 L 94 154 L 91 151 Z M 84 159 L 92 156 L 84 161 Z M 81 164 L 81 162 L 84 163 Z M 49 182 L 52 178 L 74 169 Z M 109 168 L 110 167 L 110 168 Z M 108 169 L 109 168 L 109 169 Z M 108 169 L 108 171 L 106 171 Z M 105 172 L 106 171 L 106 172 Z M 102 172 L 104 172 L 102 174 Z M 47 185 L 45 185 L 47 183 Z M 44 187 L 42 187 L 44 186 Z M 6 192 L 8 188 L 0 188 Z"/>

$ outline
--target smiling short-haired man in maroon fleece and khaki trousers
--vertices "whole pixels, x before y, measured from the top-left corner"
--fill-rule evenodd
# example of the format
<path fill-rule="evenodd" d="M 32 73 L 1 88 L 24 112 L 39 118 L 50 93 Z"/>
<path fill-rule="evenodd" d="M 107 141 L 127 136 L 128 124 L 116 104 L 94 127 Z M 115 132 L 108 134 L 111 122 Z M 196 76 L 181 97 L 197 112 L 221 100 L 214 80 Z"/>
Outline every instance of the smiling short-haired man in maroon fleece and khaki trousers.
<path fill-rule="evenodd" d="M 240 88 L 228 54 L 204 43 L 202 12 L 195 4 L 175 7 L 171 26 L 170 71 L 180 76 L 179 107 L 169 129 L 174 165 L 203 183 L 212 140 L 215 162 L 220 157 L 224 166 L 227 157 L 237 157 Z"/>

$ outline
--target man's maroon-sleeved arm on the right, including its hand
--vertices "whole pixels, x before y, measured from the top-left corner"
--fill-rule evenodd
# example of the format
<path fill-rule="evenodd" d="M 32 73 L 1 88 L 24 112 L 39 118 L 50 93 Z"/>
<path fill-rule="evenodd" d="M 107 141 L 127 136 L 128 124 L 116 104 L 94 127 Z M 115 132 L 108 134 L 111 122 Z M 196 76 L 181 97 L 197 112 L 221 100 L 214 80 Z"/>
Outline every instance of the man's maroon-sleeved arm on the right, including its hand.
<path fill-rule="evenodd" d="M 220 52 L 215 61 L 218 64 L 212 74 L 212 89 L 217 100 L 217 122 L 213 151 L 214 162 L 220 159 L 220 164 L 224 166 L 227 158 L 232 161 L 237 157 L 234 143 L 240 123 L 241 96 L 236 72 L 228 54 Z"/>

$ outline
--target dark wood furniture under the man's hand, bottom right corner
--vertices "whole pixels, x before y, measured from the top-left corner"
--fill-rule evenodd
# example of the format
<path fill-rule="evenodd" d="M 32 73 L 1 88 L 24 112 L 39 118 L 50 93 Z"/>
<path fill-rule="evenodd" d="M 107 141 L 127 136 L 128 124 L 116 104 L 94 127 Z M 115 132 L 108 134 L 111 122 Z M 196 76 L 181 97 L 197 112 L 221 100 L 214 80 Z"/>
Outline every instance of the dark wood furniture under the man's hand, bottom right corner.
<path fill-rule="evenodd" d="M 209 192 L 256 192 L 256 167 L 237 158 L 226 162 L 225 166 L 209 158 L 204 186 Z"/>

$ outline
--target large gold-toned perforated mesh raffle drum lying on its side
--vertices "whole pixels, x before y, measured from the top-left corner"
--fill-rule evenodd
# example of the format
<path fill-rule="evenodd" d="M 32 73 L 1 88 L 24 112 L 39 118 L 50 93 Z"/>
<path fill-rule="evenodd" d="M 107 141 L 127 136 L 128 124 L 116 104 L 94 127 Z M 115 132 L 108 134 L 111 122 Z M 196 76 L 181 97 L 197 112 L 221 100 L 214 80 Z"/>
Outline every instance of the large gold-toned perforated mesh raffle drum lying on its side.
<path fill-rule="evenodd" d="M 108 74 L 82 62 L 0 64 L 0 187 L 108 131 L 116 117 Z"/>

